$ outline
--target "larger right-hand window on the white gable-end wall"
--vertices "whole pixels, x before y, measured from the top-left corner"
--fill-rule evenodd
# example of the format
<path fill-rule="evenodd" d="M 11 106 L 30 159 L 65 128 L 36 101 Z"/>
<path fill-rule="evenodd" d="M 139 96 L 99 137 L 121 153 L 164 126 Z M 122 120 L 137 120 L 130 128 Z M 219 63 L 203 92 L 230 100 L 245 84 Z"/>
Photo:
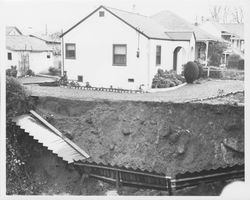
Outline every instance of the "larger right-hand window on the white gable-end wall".
<path fill-rule="evenodd" d="M 127 45 L 114 44 L 113 45 L 113 65 L 126 66 L 127 65 Z"/>

